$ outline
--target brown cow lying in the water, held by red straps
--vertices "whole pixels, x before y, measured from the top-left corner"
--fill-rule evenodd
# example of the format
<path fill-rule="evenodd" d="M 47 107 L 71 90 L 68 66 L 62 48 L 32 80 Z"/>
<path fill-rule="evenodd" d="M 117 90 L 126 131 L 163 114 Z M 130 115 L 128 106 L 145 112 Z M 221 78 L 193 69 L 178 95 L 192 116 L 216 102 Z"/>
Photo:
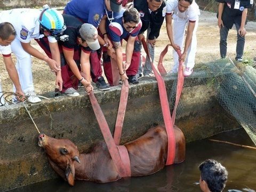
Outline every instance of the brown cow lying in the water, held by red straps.
<path fill-rule="evenodd" d="M 185 160 L 185 138 L 181 130 L 174 126 L 176 151 L 174 163 Z M 68 139 L 54 139 L 39 134 L 38 145 L 43 147 L 54 169 L 69 185 L 75 179 L 99 183 L 121 179 L 110 157 L 105 142 L 99 142 L 87 154 L 79 154 L 77 147 Z M 130 162 L 131 176 L 153 174 L 162 170 L 167 156 L 167 135 L 163 126 L 149 129 L 140 138 L 125 143 Z"/>

